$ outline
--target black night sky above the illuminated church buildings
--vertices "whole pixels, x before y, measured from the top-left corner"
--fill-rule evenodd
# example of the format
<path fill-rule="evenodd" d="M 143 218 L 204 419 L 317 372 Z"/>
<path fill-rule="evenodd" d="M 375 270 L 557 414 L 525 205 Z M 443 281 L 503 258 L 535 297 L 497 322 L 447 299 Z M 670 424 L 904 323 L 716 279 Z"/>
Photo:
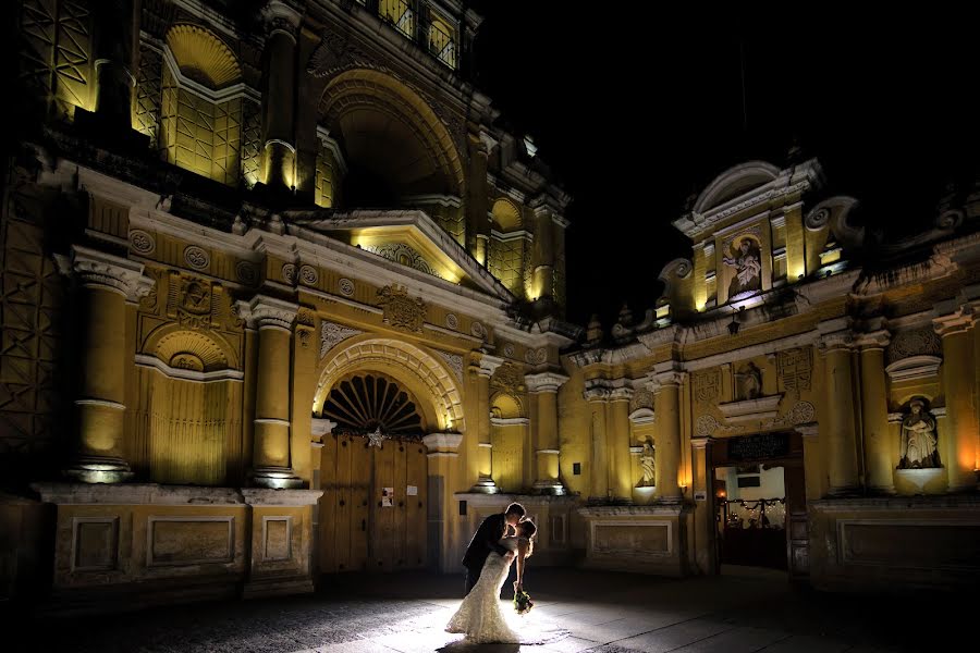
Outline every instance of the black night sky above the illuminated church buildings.
<path fill-rule="evenodd" d="M 869 222 L 928 225 L 944 184 L 969 176 L 980 152 L 966 9 L 469 4 L 485 16 L 477 85 L 575 198 L 578 323 L 599 312 L 608 328 L 624 300 L 637 317 L 653 305 L 663 264 L 690 255 L 670 222 L 731 165 L 783 165 L 795 141 Z"/>

